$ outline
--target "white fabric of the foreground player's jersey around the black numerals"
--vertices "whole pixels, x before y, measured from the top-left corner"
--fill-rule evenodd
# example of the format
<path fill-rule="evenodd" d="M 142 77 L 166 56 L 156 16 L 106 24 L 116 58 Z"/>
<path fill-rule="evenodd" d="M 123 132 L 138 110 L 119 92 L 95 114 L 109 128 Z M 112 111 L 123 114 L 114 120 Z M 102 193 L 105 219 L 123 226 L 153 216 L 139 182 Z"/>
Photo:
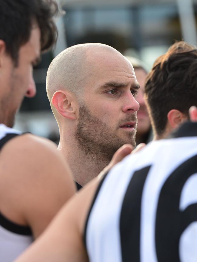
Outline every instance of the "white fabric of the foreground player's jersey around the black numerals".
<path fill-rule="evenodd" d="M 196 154 L 196 137 L 154 141 L 140 152 L 126 157 L 109 172 L 88 218 L 86 245 L 91 262 L 122 261 L 119 229 L 122 202 L 134 172 L 149 165 L 151 168 L 145 180 L 141 202 L 140 261 L 157 262 L 155 218 L 161 188 L 179 165 Z M 197 181 L 194 178 L 192 178 L 193 183 L 195 183 L 193 188 L 197 188 Z M 181 206 L 183 204 L 189 205 L 191 201 L 196 202 L 196 195 L 194 197 L 193 193 L 190 194 L 191 186 L 189 189 L 187 187 L 185 184 L 182 190 Z M 190 224 L 189 227 L 191 226 Z M 196 261 L 197 249 L 194 249 L 194 244 L 188 239 L 191 231 L 185 232 L 186 230 L 180 241 L 181 261 L 193 262 Z M 197 233 L 195 238 L 197 238 Z M 192 244 L 193 258 L 184 255 L 186 254 L 185 248 L 190 248 L 188 243 L 190 246 Z"/>

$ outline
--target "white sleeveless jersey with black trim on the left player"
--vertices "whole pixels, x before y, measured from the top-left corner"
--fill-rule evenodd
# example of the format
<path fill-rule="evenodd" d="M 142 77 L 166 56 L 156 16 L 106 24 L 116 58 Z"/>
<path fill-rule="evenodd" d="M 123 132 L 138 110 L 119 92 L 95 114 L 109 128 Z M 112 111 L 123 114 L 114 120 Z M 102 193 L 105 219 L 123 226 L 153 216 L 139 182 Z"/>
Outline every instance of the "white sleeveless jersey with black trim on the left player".
<path fill-rule="evenodd" d="M 0 150 L 9 139 L 12 139 L 17 135 L 20 135 L 20 132 L 0 124 Z M 2 171 L 0 170 L 0 173 L 1 172 Z M 32 232 L 29 227 L 15 224 L 0 213 L 1 262 L 12 262 L 32 243 L 32 241 Z"/>

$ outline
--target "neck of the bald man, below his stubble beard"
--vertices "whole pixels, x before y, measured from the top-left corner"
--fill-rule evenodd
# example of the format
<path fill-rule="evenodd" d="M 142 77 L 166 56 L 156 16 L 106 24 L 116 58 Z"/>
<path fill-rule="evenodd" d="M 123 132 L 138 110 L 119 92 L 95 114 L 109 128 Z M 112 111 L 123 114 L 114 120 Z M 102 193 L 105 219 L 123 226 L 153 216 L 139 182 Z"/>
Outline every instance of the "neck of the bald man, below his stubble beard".
<path fill-rule="evenodd" d="M 61 151 L 65 160 L 68 162 L 73 173 L 73 180 L 81 186 L 84 186 L 90 180 L 99 175 L 99 173 L 109 163 L 104 160 L 90 159 L 85 152 L 82 152 L 78 148 L 75 142 L 72 143 L 70 141 L 69 143 L 66 143 L 60 139 L 58 150 Z"/>

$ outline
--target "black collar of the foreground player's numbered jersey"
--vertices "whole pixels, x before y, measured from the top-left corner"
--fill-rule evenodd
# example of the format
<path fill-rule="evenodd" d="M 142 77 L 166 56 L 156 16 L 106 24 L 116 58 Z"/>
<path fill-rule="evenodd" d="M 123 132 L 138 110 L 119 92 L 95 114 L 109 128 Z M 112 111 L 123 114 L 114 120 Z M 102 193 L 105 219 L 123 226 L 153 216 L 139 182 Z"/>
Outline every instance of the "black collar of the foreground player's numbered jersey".
<path fill-rule="evenodd" d="M 179 127 L 178 130 L 174 131 L 169 138 L 197 136 L 197 122 L 186 122 Z"/>

